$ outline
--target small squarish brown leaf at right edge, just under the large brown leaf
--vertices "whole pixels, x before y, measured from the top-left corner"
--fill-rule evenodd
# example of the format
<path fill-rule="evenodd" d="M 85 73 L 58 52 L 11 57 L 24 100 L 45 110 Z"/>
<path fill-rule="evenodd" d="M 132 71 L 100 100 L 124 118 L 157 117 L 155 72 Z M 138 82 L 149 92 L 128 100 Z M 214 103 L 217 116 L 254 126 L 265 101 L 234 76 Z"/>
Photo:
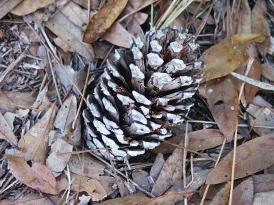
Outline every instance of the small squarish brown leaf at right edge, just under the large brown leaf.
<path fill-rule="evenodd" d="M 258 174 L 253 176 L 254 193 L 274 190 L 274 174 Z"/>

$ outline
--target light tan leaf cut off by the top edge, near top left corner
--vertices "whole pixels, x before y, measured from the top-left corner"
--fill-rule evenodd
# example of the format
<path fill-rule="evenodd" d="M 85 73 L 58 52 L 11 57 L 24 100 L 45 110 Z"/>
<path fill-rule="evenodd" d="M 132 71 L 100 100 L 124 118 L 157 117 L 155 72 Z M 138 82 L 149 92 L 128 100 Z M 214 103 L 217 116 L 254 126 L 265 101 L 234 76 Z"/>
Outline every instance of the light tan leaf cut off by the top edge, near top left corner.
<path fill-rule="evenodd" d="M 16 7 L 14 7 L 10 12 L 17 16 L 24 16 L 35 12 L 40 8 L 44 8 L 45 6 L 53 3 L 54 0 L 24 0 Z"/>

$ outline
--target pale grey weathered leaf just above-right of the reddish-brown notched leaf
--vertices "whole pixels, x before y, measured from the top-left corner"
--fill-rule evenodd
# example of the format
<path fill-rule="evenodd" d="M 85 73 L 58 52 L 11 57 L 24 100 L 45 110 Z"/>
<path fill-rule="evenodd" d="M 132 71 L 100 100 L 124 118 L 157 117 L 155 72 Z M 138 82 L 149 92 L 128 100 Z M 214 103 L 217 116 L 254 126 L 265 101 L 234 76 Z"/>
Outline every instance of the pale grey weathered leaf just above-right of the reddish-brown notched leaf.
<path fill-rule="evenodd" d="M 63 139 L 58 139 L 51 145 L 51 152 L 47 158 L 47 167 L 51 169 L 53 175 L 59 176 L 64 167 L 69 163 L 71 154 L 58 155 L 59 153 L 72 152 L 73 146 L 66 143 Z"/>

